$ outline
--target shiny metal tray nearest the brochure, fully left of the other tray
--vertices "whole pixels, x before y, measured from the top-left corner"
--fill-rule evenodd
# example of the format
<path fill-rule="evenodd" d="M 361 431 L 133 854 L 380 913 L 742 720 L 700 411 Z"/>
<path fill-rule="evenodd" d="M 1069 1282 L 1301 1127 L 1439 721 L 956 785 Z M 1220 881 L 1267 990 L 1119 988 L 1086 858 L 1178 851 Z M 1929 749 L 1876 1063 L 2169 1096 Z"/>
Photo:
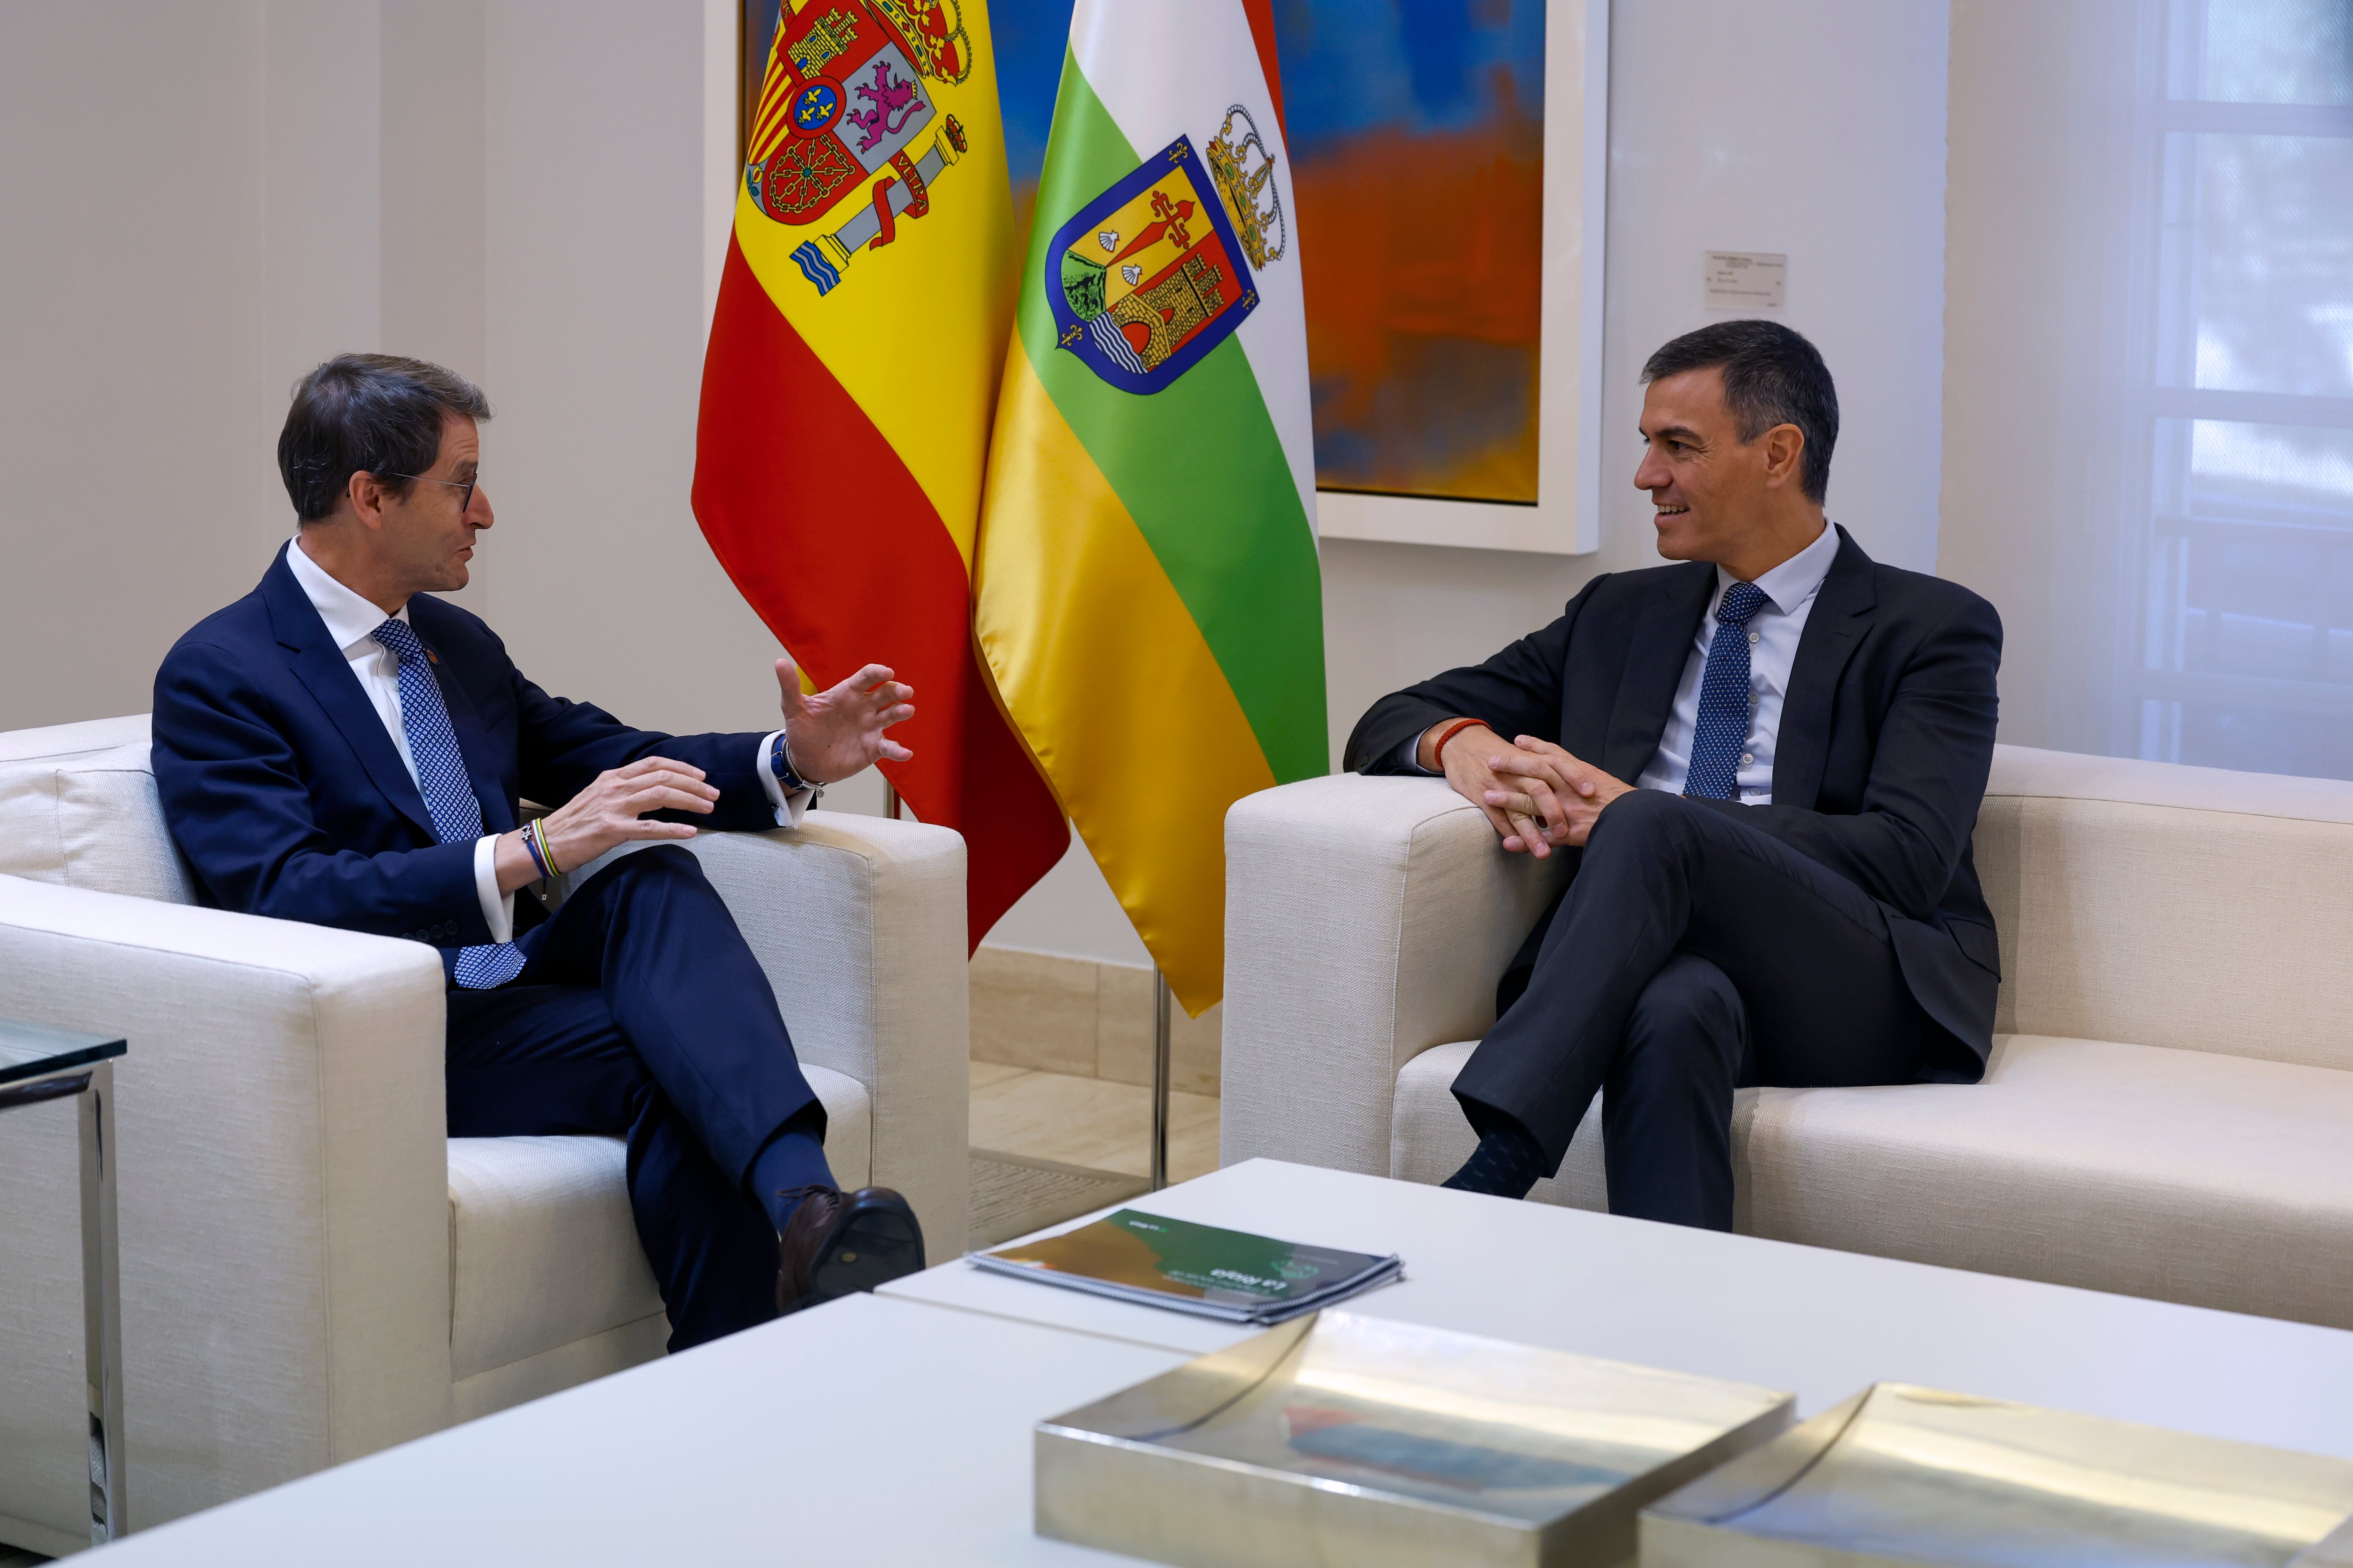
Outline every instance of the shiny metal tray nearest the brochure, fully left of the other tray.
<path fill-rule="evenodd" d="M 1038 1533 L 1184 1568 L 1633 1561 L 1793 1399 L 1320 1312 L 1038 1425 Z"/>

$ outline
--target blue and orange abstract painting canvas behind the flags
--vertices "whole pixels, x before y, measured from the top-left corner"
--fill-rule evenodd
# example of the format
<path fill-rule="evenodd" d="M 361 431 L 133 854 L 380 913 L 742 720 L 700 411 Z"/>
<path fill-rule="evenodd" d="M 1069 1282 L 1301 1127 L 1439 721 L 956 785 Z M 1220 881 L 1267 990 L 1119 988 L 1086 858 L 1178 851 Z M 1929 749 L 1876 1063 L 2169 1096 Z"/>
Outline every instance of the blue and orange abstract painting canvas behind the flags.
<path fill-rule="evenodd" d="M 1544 0 L 1275 0 L 1320 489 L 1537 498 Z"/>

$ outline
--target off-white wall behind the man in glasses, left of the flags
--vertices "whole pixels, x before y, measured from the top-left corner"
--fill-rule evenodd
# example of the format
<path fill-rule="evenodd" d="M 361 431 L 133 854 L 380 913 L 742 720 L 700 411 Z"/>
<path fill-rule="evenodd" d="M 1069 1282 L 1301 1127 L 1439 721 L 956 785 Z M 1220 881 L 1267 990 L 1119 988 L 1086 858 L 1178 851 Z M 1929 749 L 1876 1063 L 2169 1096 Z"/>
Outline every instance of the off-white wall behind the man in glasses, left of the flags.
<path fill-rule="evenodd" d="M 292 531 L 287 388 L 351 348 L 499 409 L 459 602 L 525 670 L 647 726 L 767 724 L 776 644 L 687 505 L 732 26 L 722 0 L 0 9 L 0 296 L 38 301 L 0 313 L 0 729 L 148 708 Z"/>

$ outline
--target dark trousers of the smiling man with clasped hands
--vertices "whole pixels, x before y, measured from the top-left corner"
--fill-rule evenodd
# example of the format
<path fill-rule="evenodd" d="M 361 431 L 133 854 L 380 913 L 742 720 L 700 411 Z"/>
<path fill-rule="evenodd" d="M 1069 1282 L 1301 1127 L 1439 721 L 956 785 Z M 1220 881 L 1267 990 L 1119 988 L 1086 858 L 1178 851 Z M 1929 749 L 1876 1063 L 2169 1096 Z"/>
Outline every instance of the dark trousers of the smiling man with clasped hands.
<path fill-rule="evenodd" d="M 1609 1211 L 1732 1229 L 1732 1091 L 1904 1084 L 1937 1048 L 1859 886 L 1734 813 L 1609 802 L 1527 990 L 1454 1079 L 1560 1168 L 1602 1091 Z"/>

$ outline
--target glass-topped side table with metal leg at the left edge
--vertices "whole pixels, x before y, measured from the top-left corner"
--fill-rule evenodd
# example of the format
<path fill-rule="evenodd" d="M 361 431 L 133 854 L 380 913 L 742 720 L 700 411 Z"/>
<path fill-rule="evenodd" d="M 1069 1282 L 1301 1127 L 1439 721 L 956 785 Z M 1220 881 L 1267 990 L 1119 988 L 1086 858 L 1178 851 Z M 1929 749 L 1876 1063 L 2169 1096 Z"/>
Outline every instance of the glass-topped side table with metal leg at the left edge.
<path fill-rule="evenodd" d="M 80 1100 L 89 1544 L 122 1535 L 122 1293 L 115 1281 L 115 1063 L 125 1041 L 0 1018 L 0 1112 Z"/>

